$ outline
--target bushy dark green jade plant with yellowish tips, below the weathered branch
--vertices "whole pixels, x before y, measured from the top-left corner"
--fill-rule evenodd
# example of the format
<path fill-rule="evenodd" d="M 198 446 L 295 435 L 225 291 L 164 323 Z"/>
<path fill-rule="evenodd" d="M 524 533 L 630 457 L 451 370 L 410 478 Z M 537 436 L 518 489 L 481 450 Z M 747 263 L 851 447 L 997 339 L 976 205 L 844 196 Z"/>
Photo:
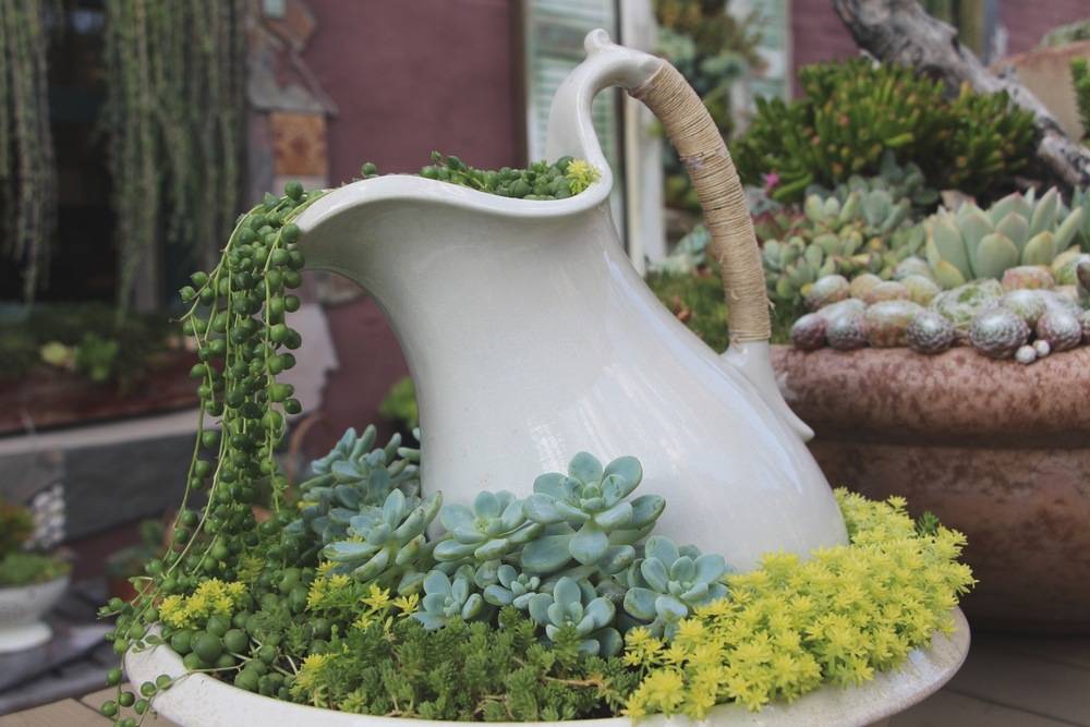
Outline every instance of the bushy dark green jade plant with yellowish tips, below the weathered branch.
<path fill-rule="evenodd" d="M 907 66 L 821 63 L 803 66 L 799 83 L 799 100 L 758 99 L 732 149 L 743 181 L 775 173 L 782 202 L 801 199 L 811 184 L 879 173 L 887 152 L 919 165 L 931 186 L 990 194 L 1026 165 L 1034 143 L 1032 114 L 1006 94 L 962 88 L 947 99 L 942 82 Z"/>

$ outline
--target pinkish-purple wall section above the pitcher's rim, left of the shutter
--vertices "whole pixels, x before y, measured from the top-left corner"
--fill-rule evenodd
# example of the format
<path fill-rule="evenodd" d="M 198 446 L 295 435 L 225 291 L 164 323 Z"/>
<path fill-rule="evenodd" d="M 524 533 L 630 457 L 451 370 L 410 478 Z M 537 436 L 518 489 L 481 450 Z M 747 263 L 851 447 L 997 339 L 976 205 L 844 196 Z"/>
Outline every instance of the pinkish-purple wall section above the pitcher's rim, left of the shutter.
<path fill-rule="evenodd" d="M 308 0 L 304 60 L 340 112 L 329 121 L 330 181 L 374 161 L 427 163 L 431 149 L 482 167 L 519 161 L 518 64 L 507 0 Z"/>

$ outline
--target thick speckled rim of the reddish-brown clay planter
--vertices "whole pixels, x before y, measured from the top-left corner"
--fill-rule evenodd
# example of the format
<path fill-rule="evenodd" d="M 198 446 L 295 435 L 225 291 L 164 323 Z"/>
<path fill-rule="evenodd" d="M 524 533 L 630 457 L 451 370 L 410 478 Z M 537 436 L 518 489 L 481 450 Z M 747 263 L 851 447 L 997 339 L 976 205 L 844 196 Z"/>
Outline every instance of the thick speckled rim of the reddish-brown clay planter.
<path fill-rule="evenodd" d="M 1027 446 L 1090 434 L 1090 346 L 1030 365 L 967 347 L 800 351 L 774 346 L 776 381 L 796 413 L 825 432 Z"/>

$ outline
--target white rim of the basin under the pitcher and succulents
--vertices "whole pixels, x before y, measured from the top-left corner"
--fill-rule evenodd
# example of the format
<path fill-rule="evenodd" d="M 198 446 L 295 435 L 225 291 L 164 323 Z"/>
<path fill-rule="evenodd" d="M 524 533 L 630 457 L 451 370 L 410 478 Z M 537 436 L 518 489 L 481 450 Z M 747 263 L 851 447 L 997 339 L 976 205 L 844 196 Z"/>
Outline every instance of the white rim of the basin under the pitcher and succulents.
<path fill-rule="evenodd" d="M 723 704 L 714 707 L 702 724 L 850 727 L 884 719 L 937 691 L 965 662 L 969 652 L 969 625 L 958 608 L 954 609 L 953 617 L 954 633 L 949 637 L 936 633 L 930 649 L 913 651 L 899 668 L 879 673 L 864 684 L 849 689 L 826 684 L 790 704 L 774 702 L 761 712 L 749 712 L 738 704 Z M 159 674 L 175 678 L 186 674 L 182 659 L 167 646 L 156 646 L 143 652 L 130 651 L 124 656 L 124 667 L 133 682 L 154 681 Z M 162 716 L 189 727 L 233 727 L 239 724 L 261 724 L 263 727 L 456 727 L 472 724 L 359 715 L 304 706 L 246 692 L 203 674 L 180 678 L 170 689 L 156 696 L 154 708 Z M 628 717 L 606 717 L 491 724 L 499 727 L 569 724 L 625 727 L 631 725 L 632 720 Z M 694 723 L 679 716 L 650 715 L 641 717 L 640 724 L 649 727 L 680 727 Z"/>

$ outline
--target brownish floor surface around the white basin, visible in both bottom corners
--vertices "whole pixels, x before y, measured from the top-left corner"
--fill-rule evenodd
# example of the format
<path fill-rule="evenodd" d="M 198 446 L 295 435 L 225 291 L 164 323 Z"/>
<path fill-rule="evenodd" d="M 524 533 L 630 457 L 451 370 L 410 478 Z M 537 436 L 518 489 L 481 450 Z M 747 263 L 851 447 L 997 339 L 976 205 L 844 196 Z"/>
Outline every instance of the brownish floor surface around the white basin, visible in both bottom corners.
<path fill-rule="evenodd" d="M 112 690 L 108 690 L 112 692 Z M 95 692 L 0 717 L 0 727 L 99 727 Z M 166 719 L 146 727 L 172 727 Z M 891 727 L 1090 727 L 1090 638 L 973 634 L 953 681 Z M 800 725 L 800 727 L 806 727 Z"/>

